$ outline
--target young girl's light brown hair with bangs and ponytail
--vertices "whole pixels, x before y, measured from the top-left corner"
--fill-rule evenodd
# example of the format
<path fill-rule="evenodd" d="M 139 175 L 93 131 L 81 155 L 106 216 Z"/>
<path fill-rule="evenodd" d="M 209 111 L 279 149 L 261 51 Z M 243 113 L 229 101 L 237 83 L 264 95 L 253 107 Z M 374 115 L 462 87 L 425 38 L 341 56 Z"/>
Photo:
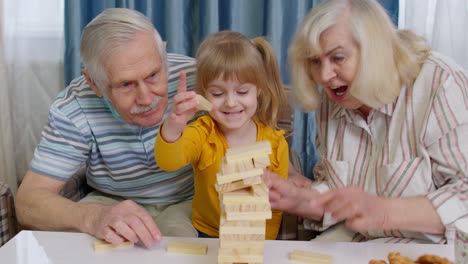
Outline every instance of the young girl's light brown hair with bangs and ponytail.
<path fill-rule="evenodd" d="M 278 128 L 280 109 L 287 105 L 278 63 L 271 45 L 264 38 L 250 40 L 241 33 L 221 31 L 209 35 L 197 55 L 196 89 L 206 95 L 213 80 L 236 79 L 257 86 L 255 118 L 264 125 Z"/>

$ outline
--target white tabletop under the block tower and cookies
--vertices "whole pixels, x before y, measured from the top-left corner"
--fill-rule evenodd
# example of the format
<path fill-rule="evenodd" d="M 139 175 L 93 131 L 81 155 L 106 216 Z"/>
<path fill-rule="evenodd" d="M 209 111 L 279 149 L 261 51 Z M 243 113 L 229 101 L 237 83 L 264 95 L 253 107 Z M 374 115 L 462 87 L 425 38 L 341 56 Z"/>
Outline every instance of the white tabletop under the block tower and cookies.
<path fill-rule="evenodd" d="M 216 263 L 218 239 L 165 237 L 150 248 L 133 248 L 94 252 L 94 238 L 81 233 L 22 231 L 0 248 L 2 264 L 145 264 L 145 263 Z M 208 244 L 205 256 L 166 253 L 169 241 L 203 242 Z M 288 253 L 306 250 L 333 256 L 333 263 L 368 263 L 371 259 L 387 259 L 390 251 L 416 259 L 423 254 L 437 254 L 454 260 L 453 245 L 377 244 L 377 243 L 318 243 L 310 241 L 266 241 L 264 263 L 292 263 Z"/>

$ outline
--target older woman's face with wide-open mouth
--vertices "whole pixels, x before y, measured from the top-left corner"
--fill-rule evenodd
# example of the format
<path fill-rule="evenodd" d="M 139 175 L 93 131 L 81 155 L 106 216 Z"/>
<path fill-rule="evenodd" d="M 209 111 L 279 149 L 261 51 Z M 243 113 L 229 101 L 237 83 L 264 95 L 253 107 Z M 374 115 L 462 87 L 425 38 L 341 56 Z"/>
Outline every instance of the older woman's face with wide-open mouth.
<path fill-rule="evenodd" d="M 321 54 L 308 58 L 313 80 L 320 84 L 330 100 L 345 109 L 363 106 L 349 87 L 359 64 L 359 49 L 346 22 L 341 20 L 320 35 Z"/>

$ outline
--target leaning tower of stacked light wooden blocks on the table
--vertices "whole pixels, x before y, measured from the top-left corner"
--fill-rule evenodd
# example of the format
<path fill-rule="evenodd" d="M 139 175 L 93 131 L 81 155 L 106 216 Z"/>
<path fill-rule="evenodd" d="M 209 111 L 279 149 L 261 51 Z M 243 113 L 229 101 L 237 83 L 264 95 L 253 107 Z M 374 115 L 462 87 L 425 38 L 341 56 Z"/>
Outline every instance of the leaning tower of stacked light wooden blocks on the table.
<path fill-rule="evenodd" d="M 217 174 L 221 217 L 218 263 L 263 263 L 266 219 L 272 216 L 262 180 L 269 141 L 228 149 Z"/>

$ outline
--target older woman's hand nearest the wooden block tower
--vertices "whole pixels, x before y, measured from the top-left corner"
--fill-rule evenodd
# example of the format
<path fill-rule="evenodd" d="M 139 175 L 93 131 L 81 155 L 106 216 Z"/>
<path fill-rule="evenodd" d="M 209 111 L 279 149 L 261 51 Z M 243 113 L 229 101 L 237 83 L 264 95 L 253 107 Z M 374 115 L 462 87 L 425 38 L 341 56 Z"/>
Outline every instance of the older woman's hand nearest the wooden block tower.
<path fill-rule="evenodd" d="M 305 187 L 301 181 L 298 184 L 291 180 L 285 180 L 268 170 L 264 172 L 263 179 L 270 190 L 272 209 L 316 220 L 322 217 L 323 210 L 317 207 L 315 202 L 318 192 L 309 188 L 310 183 Z"/>

